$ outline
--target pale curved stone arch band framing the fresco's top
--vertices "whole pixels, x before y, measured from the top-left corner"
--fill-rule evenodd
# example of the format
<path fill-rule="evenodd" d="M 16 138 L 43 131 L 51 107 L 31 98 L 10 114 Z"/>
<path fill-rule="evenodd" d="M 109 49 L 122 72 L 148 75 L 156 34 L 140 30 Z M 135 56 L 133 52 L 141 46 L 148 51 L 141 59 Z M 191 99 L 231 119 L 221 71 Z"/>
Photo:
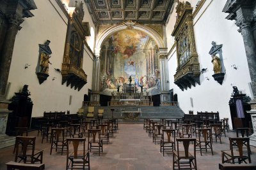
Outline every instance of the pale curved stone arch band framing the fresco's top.
<path fill-rule="evenodd" d="M 95 46 L 95 52 L 100 49 L 100 46 L 102 45 L 102 42 L 106 38 L 108 38 L 108 36 L 110 34 L 113 34 L 114 32 L 121 31 L 121 30 L 124 30 L 124 29 L 127 29 L 127 26 L 124 25 L 124 24 L 122 24 L 122 25 L 113 25 L 113 26 L 109 27 L 108 29 L 106 29 L 104 32 L 102 32 L 102 34 L 100 34 L 100 36 L 97 38 L 96 46 Z M 147 27 L 145 25 L 140 25 L 140 24 L 133 25 L 133 29 L 137 29 L 139 31 L 146 32 L 148 34 L 148 36 L 150 36 L 152 39 L 154 39 L 156 41 L 156 44 L 159 48 L 164 48 L 163 39 L 161 38 L 161 36 L 159 36 L 159 34 L 156 31 L 154 31 L 154 29 L 152 29 L 150 27 Z"/>

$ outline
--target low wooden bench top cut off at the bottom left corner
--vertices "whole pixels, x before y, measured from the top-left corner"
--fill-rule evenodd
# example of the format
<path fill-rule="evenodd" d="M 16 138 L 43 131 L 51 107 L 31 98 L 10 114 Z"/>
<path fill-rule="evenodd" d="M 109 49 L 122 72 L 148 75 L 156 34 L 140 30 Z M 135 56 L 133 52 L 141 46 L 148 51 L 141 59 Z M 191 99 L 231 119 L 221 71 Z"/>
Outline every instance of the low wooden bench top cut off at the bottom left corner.
<path fill-rule="evenodd" d="M 7 170 L 19 169 L 19 170 L 42 170 L 44 169 L 44 164 L 24 164 L 14 161 L 6 163 Z"/>

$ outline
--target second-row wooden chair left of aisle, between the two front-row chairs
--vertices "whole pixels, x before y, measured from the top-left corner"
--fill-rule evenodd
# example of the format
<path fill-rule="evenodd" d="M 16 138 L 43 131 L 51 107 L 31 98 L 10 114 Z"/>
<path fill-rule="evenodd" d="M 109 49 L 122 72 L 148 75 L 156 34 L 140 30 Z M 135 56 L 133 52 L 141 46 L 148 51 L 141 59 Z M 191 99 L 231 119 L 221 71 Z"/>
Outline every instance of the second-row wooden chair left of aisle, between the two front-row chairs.
<path fill-rule="evenodd" d="M 55 151 L 61 150 L 61 155 L 63 150 L 67 149 L 67 139 L 65 139 L 65 128 L 52 128 L 51 129 L 51 152 L 52 148 L 55 148 Z"/>

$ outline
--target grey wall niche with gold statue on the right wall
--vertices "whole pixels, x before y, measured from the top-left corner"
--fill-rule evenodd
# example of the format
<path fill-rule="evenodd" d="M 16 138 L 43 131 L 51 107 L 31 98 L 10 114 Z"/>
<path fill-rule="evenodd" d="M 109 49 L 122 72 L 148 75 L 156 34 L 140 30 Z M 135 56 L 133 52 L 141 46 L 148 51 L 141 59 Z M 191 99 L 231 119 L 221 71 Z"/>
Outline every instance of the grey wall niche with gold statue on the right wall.
<path fill-rule="evenodd" d="M 212 57 L 212 70 L 214 71 L 212 77 L 222 85 L 226 73 L 226 69 L 223 64 L 222 45 L 216 45 L 216 43 L 212 41 L 212 48 L 209 54 Z"/>

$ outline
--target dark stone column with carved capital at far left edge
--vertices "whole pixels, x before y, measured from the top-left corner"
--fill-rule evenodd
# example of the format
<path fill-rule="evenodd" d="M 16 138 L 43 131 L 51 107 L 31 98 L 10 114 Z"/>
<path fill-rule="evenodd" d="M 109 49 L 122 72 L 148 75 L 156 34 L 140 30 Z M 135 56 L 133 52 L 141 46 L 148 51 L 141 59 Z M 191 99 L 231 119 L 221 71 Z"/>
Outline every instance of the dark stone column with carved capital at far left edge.
<path fill-rule="evenodd" d="M 21 29 L 20 24 L 24 21 L 17 15 L 8 16 L 8 29 L 4 37 L 3 51 L 0 62 L 0 96 L 4 96 L 12 62 L 13 46 L 17 32 Z"/>

